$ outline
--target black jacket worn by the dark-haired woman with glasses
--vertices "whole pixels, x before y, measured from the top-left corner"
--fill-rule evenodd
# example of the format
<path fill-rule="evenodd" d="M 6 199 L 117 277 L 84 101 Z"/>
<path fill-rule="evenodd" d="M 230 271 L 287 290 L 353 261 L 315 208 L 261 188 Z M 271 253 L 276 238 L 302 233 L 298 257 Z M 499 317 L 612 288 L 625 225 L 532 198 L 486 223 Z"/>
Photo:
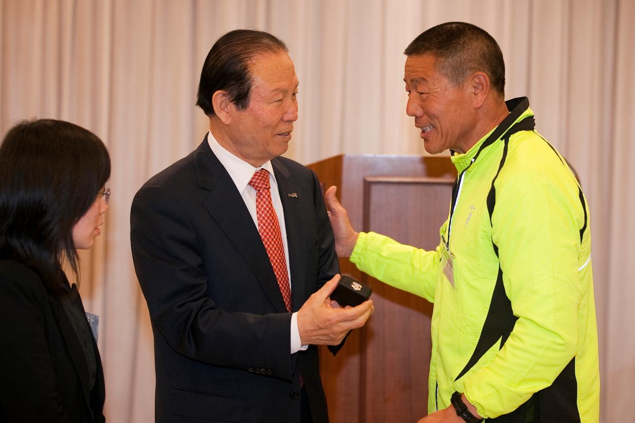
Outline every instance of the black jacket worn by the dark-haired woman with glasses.
<path fill-rule="evenodd" d="M 83 311 L 79 296 L 77 302 Z M 90 391 L 86 358 L 59 297 L 29 267 L 0 260 L 1 422 L 105 422 L 94 339 L 93 348 L 97 377 Z"/>

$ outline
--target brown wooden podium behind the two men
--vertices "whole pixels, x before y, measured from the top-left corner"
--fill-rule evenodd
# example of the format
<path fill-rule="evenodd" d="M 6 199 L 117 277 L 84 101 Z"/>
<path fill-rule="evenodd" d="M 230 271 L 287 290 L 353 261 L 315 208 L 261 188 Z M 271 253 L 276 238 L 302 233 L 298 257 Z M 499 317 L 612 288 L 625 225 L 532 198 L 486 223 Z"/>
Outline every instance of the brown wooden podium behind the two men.
<path fill-rule="evenodd" d="M 456 177 L 449 158 L 346 155 L 308 167 L 323 191 L 337 185 L 355 229 L 426 250 L 439 244 Z M 340 265 L 373 288 L 375 314 L 349 335 L 337 357 L 320 351 L 330 420 L 416 422 L 427 414 L 432 304 L 370 278 L 347 258 Z"/>

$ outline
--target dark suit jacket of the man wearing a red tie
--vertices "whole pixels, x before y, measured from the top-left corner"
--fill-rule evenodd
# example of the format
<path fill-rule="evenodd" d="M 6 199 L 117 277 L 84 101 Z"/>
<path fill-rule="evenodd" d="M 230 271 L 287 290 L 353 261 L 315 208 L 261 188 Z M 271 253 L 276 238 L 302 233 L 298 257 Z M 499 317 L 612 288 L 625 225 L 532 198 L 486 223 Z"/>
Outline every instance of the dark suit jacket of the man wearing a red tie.
<path fill-rule="evenodd" d="M 272 164 L 297 311 L 339 271 L 333 231 L 316 175 Z M 157 422 L 298 422 L 300 372 L 314 422 L 328 421 L 317 347 L 290 354 L 291 314 L 258 229 L 206 139 L 137 192 L 131 243 L 154 332 Z"/>

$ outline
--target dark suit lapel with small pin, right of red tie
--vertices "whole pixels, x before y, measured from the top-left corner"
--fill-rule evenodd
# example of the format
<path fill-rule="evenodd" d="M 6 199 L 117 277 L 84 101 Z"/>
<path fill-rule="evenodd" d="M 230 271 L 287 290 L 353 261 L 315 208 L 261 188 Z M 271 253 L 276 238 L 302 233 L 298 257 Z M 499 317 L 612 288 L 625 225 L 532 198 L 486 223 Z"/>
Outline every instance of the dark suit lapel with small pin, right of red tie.
<path fill-rule="evenodd" d="M 298 311 L 307 299 L 306 293 L 306 246 L 302 216 L 304 196 L 308 192 L 300 192 L 291 181 L 289 170 L 278 159 L 271 161 L 276 175 L 278 192 L 284 210 L 284 225 L 289 246 L 289 265 L 291 267 L 291 304 L 293 311 Z"/>

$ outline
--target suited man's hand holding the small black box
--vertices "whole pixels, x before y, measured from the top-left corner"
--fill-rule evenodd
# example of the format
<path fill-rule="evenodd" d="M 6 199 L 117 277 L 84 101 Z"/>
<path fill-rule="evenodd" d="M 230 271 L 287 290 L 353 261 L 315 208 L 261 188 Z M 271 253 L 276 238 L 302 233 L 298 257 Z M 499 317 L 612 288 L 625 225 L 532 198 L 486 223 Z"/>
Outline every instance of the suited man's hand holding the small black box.
<path fill-rule="evenodd" d="M 324 284 L 298 311 L 298 332 L 302 345 L 338 345 L 351 329 L 361 328 L 375 311 L 373 301 L 356 307 L 340 307 L 329 296 L 340 281 L 340 275 Z"/>

